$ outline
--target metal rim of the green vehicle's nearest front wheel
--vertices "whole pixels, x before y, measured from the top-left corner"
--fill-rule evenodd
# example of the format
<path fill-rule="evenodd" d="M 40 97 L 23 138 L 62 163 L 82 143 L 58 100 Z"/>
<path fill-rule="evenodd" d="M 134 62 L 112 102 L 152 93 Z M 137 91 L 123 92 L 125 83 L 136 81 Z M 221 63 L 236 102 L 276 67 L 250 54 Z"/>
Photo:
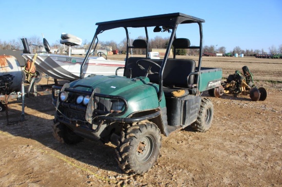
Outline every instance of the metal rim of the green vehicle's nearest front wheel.
<path fill-rule="evenodd" d="M 140 139 L 136 149 L 136 158 L 139 162 L 146 162 L 152 156 L 154 151 L 154 139 L 152 136 L 146 136 Z"/>

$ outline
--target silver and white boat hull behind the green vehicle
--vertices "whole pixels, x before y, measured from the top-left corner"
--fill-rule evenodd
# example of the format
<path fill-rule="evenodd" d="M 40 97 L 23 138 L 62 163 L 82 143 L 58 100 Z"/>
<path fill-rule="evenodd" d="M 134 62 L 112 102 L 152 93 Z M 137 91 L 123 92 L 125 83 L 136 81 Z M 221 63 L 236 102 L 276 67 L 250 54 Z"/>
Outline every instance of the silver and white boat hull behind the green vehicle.
<path fill-rule="evenodd" d="M 33 60 L 34 54 L 22 54 L 26 60 Z M 67 55 L 37 54 L 36 69 L 54 79 L 76 80 L 80 78 L 80 66 L 84 58 Z M 83 69 L 83 77 L 95 75 L 115 75 L 117 67 L 124 67 L 125 61 L 106 60 L 103 57 L 89 57 Z M 118 71 L 123 76 L 124 71 Z"/>

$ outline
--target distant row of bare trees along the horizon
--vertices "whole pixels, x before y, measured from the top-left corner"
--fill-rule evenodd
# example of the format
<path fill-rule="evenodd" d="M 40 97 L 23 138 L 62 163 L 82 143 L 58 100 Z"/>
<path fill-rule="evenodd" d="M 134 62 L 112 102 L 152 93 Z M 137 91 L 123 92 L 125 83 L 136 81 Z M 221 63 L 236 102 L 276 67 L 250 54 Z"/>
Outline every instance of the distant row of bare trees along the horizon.
<path fill-rule="evenodd" d="M 145 37 L 139 36 L 136 39 L 146 39 Z M 31 44 L 34 44 L 34 49 L 39 50 L 39 46 L 43 45 L 42 38 L 38 36 L 32 36 L 30 38 L 27 38 L 28 42 Z M 129 41 L 129 45 L 131 45 L 130 42 L 133 42 L 133 39 Z M 152 49 L 166 49 L 168 45 L 169 37 L 162 38 L 160 36 L 156 36 L 155 38 L 152 38 L 149 40 L 149 51 Z M 84 48 L 88 49 L 88 46 L 90 45 L 90 42 L 87 40 L 84 40 L 82 46 L 75 46 L 75 48 Z M 127 45 L 127 39 L 124 38 L 119 43 L 111 40 L 111 41 L 99 41 L 99 48 L 103 49 L 105 46 L 111 46 L 112 50 L 118 50 L 119 53 L 125 54 L 126 53 L 126 45 Z M 55 43 L 50 44 L 51 48 L 58 49 L 59 51 L 63 52 L 65 47 L 59 43 L 59 40 L 56 40 Z M 13 39 L 10 41 L 2 41 L 0 40 L 0 50 L 23 50 L 23 44 L 22 40 L 18 38 L 17 40 Z M 144 54 L 146 53 L 146 50 L 144 49 L 132 49 L 134 54 Z M 219 46 L 217 45 L 204 45 L 203 47 L 203 53 L 205 52 L 212 52 L 212 53 L 232 53 L 234 54 L 244 54 L 245 56 L 255 56 L 256 54 L 282 54 L 282 44 L 276 48 L 276 46 L 272 45 L 268 48 L 268 50 L 265 49 L 246 49 L 243 50 L 239 46 L 235 46 L 232 51 L 227 52 L 225 46 Z M 177 55 L 198 55 L 199 50 L 177 50 Z"/>

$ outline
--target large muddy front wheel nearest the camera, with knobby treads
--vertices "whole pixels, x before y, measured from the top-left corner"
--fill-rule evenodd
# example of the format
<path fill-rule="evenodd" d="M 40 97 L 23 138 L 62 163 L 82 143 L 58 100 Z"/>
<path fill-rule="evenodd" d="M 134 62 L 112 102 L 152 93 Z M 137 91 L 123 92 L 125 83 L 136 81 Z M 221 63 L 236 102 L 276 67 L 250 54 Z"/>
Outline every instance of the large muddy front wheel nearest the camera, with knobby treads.
<path fill-rule="evenodd" d="M 115 149 L 118 166 L 126 173 L 147 172 L 158 158 L 161 139 L 159 129 L 149 121 L 124 128 Z"/>

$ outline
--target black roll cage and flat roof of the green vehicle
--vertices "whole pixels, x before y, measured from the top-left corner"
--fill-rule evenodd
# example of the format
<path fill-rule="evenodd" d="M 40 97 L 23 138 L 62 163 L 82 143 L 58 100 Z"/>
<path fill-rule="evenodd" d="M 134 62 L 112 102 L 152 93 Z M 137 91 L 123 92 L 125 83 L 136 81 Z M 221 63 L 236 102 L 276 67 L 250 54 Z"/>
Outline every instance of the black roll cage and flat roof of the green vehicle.
<path fill-rule="evenodd" d="M 197 71 L 193 73 L 194 75 L 199 75 L 201 64 L 202 64 L 202 53 L 203 53 L 203 27 L 202 22 L 205 22 L 204 19 L 200 19 L 197 17 L 193 17 L 187 14 L 183 13 L 170 13 L 170 14 L 161 14 L 161 15 L 153 15 L 153 16 L 145 16 L 145 17 L 136 17 L 136 18 L 129 18 L 129 19 L 120 19 L 120 20 L 113 20 L 113 21 L 105 21 L 105 22 L 97 22 L 96 25 L 98 26 L 96 29 L 96 32 L 94 34 L 94 37 L 91 41 L 91 44 L 89 46 L 89 50 L 85 56 L 85 59 L 80 67 L 80 78 L 83 78 L 83 68 L 84 65 L 90 55 L 91 49 L 93 48 L 93 45 L 96 41 L 94 50 L 98 43 L 98 34 L 103 33 L 106 30 L 115 29 L 115 28 L 124 28 L 126 32 L 127 37 L 127 54 L 126 54 L 126 64 L 125 68 L 127 66 L 127 59 L 129 56 L 129 49 L 133 48 L 133 46 L 129 45 L 129 33 L 128 28 L 145 28 L 146 32 L 146 41 L 148 43 L 149 37 L 148 37 L 148 30 L 147 27 L 157 27 L 157 26 L 166 26 L 172 29 L 172 33 L 169 39 L 168 47 L 165 53 L 165 57 L 163 59 L 162 68 L 160 69 L 159 73 L 159 91 L 158 91 L 158 101 L 162 99 L 163 96 L 163 73 L 164 68 L 167 62 L 167 59 L 169 57 L 169 51 L 172 46 L 173 40 L 176 38 L 176 29 L 179 24 L 192 24 L 197 23 L 199 26 L 199 35 L 200 35 L 200 41 L 199 46 L 190 46 L 188 49 L 199 49 L 199 60 L 198 60 L 198 66 Z M 146 55 L 148 55 L 148 45 L 146 49 Z M 175 54 L 173 54 L 173 58 L 175 58 Z M 197 77 L 196 81 L 196 89 L 198 94 L 198 83 L 199 83 L 199 76 Z"/>

